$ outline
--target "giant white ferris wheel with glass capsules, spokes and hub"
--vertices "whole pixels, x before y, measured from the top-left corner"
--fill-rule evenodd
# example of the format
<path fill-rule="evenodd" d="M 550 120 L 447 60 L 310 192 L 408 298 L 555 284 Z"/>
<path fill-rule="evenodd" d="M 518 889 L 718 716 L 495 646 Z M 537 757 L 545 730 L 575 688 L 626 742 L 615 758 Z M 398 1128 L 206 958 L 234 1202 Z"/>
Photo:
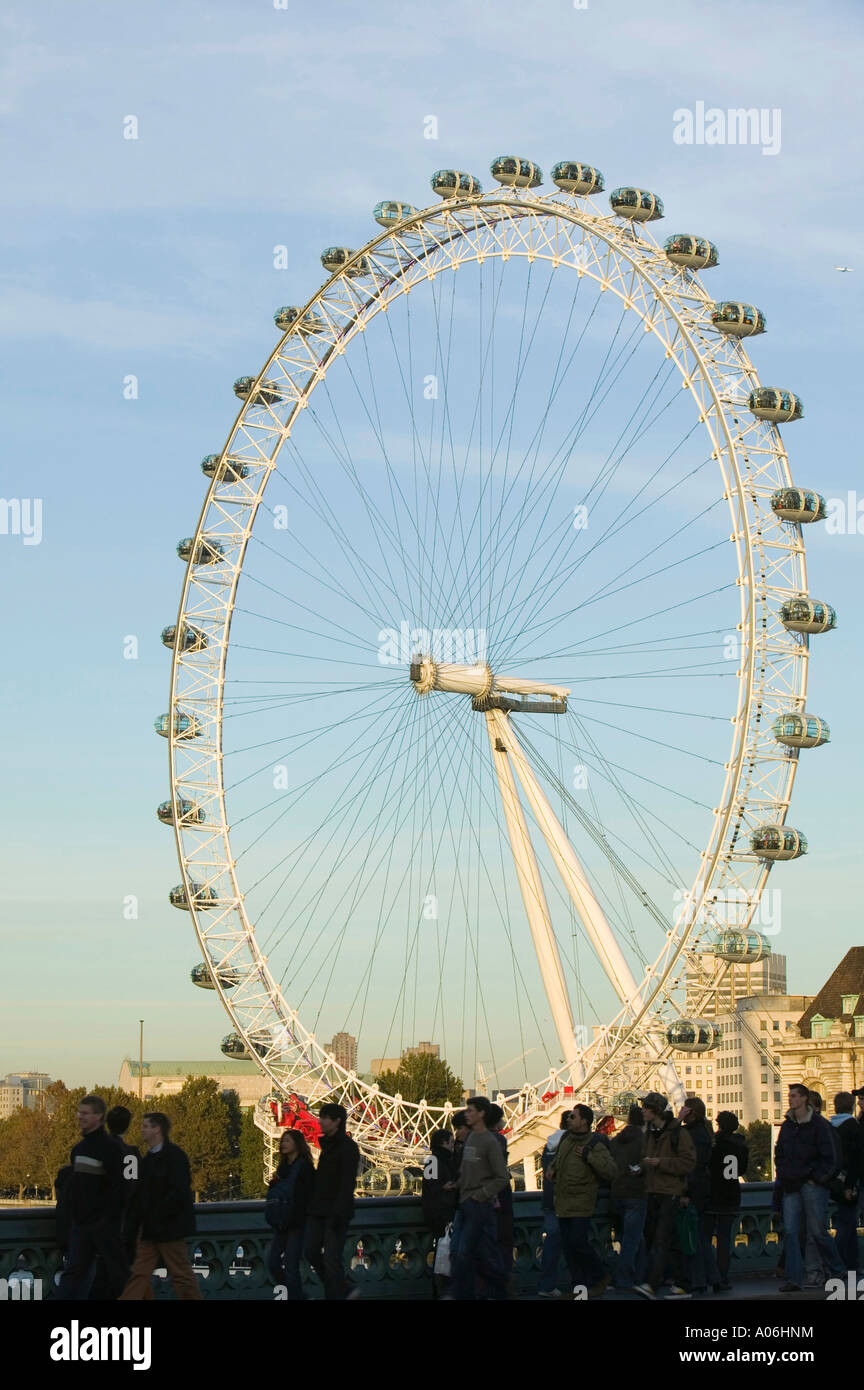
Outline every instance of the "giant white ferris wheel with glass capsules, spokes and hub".
<path fill-rule="evenodd" d="M 715 1044 L 722 973 L 770 949 L 799 753 L 829 737 L 806 709 L 825 503 L 778 431 L 800 399 L 745 350 L 763 313 L 703 288 L 711 242 L 651 235 L 657 195 L 492 174 L 379 203 L 276 311 L 163 632 L 193 983 L 228 1055 L 344 1104 L 383 1166 L 454 1105 L 324 1038 L 433 1038 L 465 1079 L 543 1058 L 515 1091 L 500 1065 L 511 1159 L 561 1094 L 682 1095 L 672 1055 Z"/>

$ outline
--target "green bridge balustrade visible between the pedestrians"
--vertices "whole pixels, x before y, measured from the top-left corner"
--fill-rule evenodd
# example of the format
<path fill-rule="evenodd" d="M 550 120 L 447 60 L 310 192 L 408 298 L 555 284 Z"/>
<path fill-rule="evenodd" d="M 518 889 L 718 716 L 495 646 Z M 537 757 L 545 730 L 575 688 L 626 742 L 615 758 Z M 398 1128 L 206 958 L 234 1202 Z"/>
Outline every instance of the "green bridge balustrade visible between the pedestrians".
<path fill-rule="evenodd" d="M 540 1194 L 514 1195 L 515 1290 L 532 1294 L 539 1277 Z M 271 1230 L 264 1220 L 264 1202 L 200 1202 L 196 1207 L 197 1236 L 189 1248 L 206 1298 L 271 1300 L 267 1273 Z M 771 1275 L 778 1261 L 782 1222 L 771 1211 L 771 1183 L 745 1183 L 729 1277 L 732 1282 Z M 606 1251 L 610 1269 L 617 1259 L 604 1197 L 597 1204 L 595 1236 Z M 346 1237 L 346 1264 L 367 1298 L 431 1298 L 432 1237 L 422 1220 L 418 1197 L 367 1197 L 357 1201 L 357 1213 Z M 0 1208 L 0 1276 L 29 1270 L 42 1279 L 43 1290 L 53 1284 L 60 1266 L 54 1244 L 53 1207 Z M 317 1280 L 307 1270 L 308 1291 Z M 161 1287 L 160 1287 L 161 1284 Z M 172 1297 L 167 1282 L 157 1280 L 156 1295 Z"/>

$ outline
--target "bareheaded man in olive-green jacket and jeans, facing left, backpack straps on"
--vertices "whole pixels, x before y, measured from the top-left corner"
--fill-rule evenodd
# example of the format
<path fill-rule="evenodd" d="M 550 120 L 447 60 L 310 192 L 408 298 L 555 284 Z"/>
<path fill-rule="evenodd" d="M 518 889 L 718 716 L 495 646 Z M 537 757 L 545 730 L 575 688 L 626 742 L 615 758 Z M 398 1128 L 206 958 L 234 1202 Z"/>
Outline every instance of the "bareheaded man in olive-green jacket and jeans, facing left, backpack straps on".
<path fill-rule="evenodd" d="M 593 1123 L 590 1105 L 572 1108 L 547 1172 L 554 1182 L 556 1216 L 574 1291 L 585 1287 L 589 1298 L 599 1298 L 611 1276 L 592 1250 L 590 1220 L 600 1183 L 611 1183 L 618 1168 L 606 1136 L 592 1134 Z"/>

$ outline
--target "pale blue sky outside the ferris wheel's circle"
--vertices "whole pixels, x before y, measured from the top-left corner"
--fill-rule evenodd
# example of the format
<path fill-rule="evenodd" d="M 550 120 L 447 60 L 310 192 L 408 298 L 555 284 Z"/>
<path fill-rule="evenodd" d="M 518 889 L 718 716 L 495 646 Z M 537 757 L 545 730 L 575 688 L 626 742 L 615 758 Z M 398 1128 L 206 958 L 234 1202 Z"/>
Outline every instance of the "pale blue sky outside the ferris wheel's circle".
<path fill-rule="evenodd" d="M 750 354 L 763 382 L 804 399 L 783 430 L 795 480 L 857 506 L 863 60 L 854 3 L 7 6 L 0 493 L 40 499 L 42 535 L 0 534 L 0 1074 L 115 1080 L 140 1017 L 149 1058 L 219 1055 L 229 1023 L 189 984 L 194 938 L 167 901 L 179 870 L 154 816 L 168 795 L 158 634 L 231 384 L 269 354 L 274 309 L 321 282 L 321 249 L 372 236 L 381 197 L 426 206 L 436 168 L 489 186 L 500 153 L 654 189 L 661 234 L 718 243 L 711 292 L 767 314 Z M 700 103 L 772 113 L 776 153 L 678 143 L 675 113 Z M 789 813 L 810 841 L 786 866 L 775 938 L 793 992 L 864 941 L 864 534 L 806 541 L 810 591 L 839 628 L 813 642 L 807 702 L 832 742 L 801 756 Z"/>

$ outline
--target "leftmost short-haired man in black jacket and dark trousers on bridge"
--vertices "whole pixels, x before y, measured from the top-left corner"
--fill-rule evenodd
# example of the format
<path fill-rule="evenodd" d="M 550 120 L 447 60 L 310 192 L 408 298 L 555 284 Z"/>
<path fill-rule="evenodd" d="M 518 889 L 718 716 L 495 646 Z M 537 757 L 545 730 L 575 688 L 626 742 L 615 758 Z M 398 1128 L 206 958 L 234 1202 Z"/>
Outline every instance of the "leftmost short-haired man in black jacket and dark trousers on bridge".
<path fill-rule="evenodd" d="M 88 1297 L 97 1259 L 103 1265 L 107 1298 L 117 1298 L 129 1272 L 121 1234 L 122 1155 L 106 1134 L 104 1118 L 106 1102 L 100 1095 L 85 1095 L 79 1101 L 81 1143 L 72 1150 L 72 1172 L 64 1191 L 69 1234 L 67 1264 L 57 1287 L 61 1300 Z"/>

